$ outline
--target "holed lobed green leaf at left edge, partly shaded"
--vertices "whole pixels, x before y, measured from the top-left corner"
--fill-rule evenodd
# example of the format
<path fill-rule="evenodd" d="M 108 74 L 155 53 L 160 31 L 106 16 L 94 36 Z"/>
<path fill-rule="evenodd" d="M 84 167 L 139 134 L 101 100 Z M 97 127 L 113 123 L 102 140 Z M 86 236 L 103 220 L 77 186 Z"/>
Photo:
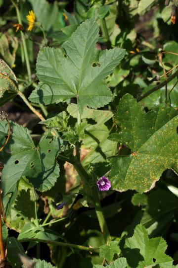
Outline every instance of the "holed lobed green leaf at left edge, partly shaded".
<path fill-rule="evenodd" d="M 20 177 L 26 176 L 42 192 L 54 185 L 59 176 L 55 158 L 67 145 L 60 138 L 47 138 L 46 132 L 36 147 L 26 128 L 12 122 L 10 125 L 13 134 L 10 134 L 7 145 L 0 153 L 0 161 L 4 165 L 1 182 L 5 210 L 9 199 L 13 199 L 14 191 L 17 194 L 16 184 Z M 0 122 L 0 144 L 5 143 L 7 133 L 7 123 Z"/>

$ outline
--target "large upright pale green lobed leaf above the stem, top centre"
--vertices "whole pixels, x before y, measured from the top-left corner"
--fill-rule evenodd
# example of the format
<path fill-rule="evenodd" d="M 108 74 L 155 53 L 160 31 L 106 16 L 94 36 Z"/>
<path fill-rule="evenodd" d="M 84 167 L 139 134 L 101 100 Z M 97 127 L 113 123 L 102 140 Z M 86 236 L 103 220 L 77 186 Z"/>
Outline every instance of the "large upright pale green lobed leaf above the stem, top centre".
<path fill-rule="evenodd" d="M 86 106 L 97 109 L 112 100 L 104 81 L 120 61 L 125 50 L 97 50 L 99 26 L 89 19 L 82 23 L 61 49 L 43 48 L 37 59 L 40 83 L 30 100 L 58 103 L 77 97 L 80 113 Z"/>

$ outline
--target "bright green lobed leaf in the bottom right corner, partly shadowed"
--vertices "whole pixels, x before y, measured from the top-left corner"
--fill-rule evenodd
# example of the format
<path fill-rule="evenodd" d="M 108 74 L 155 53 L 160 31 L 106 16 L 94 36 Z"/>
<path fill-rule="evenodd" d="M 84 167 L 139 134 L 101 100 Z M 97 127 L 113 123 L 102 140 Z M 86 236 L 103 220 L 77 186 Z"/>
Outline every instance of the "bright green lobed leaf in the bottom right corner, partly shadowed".
<path fill-rule="evenodd" d="M 159 265 L 162 268 L 172 268 L 173 259 L 165 254 L 166 249 L 167 244 L 162 237 L 149 239 L 145 227 L 139 224 L 134 230 L 133 237 L 126 239 L 122 254 L 127 259 L 128 267 L 144 268 Z"/>

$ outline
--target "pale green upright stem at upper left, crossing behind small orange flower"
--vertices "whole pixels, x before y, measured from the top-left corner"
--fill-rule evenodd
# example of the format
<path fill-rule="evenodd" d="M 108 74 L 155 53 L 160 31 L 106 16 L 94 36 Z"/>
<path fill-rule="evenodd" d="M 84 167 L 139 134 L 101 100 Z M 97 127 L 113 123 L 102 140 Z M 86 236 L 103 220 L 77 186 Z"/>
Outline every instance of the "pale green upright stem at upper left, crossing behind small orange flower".
<path fill-rule="evenodd" d="M 13 0 L 11 0 L 11 2 L 13 3 L 13 5 L 15 6 L 15 9 L 16 9 L 18 23 L 19 24 L 22 24 L 22 20 L 21 20 L 21 17 L 20 17 L 19 8 L 13 2 Z M 26 45 L 24 33 L 22 31 L 20 31 L 20 34 L 21 34 L 22 44 L 23 44 L 23 49 L 24 49 L 24 54 L 25 54 L 25 62 L 26 62 L 26 66 L 27 66 L 28 78 L 29 78 L 29 81 L 30 81 L 31 80 L 32 73 L 31 73 L 31 68 L 30 68 L 30 61 L 29 61 L 29 56 L 28 56 L 28 51 L 27 51 L 27 45 Z"/>

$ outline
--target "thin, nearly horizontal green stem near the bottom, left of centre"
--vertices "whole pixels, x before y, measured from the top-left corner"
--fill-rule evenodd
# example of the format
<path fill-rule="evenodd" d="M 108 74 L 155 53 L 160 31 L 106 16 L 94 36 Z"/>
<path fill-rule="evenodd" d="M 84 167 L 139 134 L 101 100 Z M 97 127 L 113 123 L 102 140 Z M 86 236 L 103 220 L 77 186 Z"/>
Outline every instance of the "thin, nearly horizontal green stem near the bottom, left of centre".
<path fill-rule="evenodd" d="M 26 239 L 21 239 L 21 240 L 18 240 L 18 241 L 20 243 L 36 241 L 36 242 L 47 243 L 47 244 L 52 244 L 52 245 L 58 245 L 58 246 L 67 247 L 67 248 L 86 250 L 86 251 L 95 252 L 95 253 L 100 252 L 99 249 L 93 249 L 93 248 L 88 248 L 88 247 L 84 247 L 84 246 L 79 246 L 79 245 L 74 245 L 74 244 L 66 244 L 66 243 L 50 241 L 50 240 L 43 240 L 43 239 L 38 239 L 38 238 L 26 238 Z"/>

